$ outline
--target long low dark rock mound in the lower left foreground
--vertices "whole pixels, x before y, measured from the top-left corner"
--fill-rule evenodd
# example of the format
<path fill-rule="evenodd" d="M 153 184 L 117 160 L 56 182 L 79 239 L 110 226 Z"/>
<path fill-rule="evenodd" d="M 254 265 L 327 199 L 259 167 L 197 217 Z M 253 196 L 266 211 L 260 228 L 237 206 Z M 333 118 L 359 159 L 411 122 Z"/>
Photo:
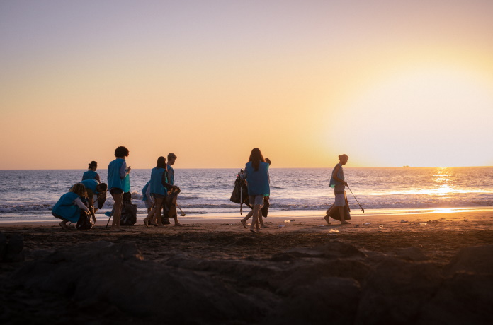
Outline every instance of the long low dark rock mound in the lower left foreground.
<path fill-rule="evenodd" d="M 94 242 L 33 261 L 12 280 L 30 290 L 91 305 L 106 302 L 131 317 L 169 324 L 256 321 L 261 301 L 237 293 L 207 273 L 143 261 L 135 244 Z"/>

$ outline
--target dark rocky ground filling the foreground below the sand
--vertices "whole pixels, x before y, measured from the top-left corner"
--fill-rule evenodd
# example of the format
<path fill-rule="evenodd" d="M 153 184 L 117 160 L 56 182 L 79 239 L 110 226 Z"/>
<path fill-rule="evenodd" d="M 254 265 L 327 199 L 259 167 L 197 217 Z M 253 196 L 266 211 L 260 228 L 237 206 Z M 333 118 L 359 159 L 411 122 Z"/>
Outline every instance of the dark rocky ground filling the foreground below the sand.
<path fill-rule="evenodd" d="M 245 235 L 202 244 L 215 240 L 241 252 L 276 243 Z M 176 243 L 149 259 L 128 237 L 31 249 L 28 261 L 1 264 L 0 323 L 493 324 L 493 244 L 443 264 L 415 247 L 348 242 L 325 238 L 259 259 L 201 258 Z"/>

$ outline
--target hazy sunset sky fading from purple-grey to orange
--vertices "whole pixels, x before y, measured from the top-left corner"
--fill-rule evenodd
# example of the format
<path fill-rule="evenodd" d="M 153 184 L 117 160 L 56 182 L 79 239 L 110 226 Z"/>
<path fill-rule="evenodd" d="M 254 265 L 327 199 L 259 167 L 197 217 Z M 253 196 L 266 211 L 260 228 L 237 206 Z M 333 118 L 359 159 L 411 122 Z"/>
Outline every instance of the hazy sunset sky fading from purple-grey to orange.
<path fill-rule="evenodd" d="M 493 1 L 0 0 L 0 169 L 493 165 Z"/>

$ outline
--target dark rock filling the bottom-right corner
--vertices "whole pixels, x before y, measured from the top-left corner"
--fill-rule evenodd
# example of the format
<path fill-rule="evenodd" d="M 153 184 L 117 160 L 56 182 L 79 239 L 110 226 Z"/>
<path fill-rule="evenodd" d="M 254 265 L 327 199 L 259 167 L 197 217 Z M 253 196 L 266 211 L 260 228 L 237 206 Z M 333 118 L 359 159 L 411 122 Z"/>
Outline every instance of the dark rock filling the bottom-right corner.
<path fill-rule="evenodd" d="M 424 306 L 417 324 L 493 324 L 493 275 L 455 273 Z"/>

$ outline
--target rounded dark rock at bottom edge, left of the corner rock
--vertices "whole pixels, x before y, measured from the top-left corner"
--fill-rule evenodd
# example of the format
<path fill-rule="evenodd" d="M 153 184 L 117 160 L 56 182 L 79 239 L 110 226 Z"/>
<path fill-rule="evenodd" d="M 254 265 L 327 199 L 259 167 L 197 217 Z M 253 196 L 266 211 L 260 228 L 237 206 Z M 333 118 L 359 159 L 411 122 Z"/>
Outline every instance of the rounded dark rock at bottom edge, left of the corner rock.
<path fill-rule="evenodd" d="M 414 324 L 442 280 L 433 264 L 388 258 L 366 280 L 356 324 Z"/>

